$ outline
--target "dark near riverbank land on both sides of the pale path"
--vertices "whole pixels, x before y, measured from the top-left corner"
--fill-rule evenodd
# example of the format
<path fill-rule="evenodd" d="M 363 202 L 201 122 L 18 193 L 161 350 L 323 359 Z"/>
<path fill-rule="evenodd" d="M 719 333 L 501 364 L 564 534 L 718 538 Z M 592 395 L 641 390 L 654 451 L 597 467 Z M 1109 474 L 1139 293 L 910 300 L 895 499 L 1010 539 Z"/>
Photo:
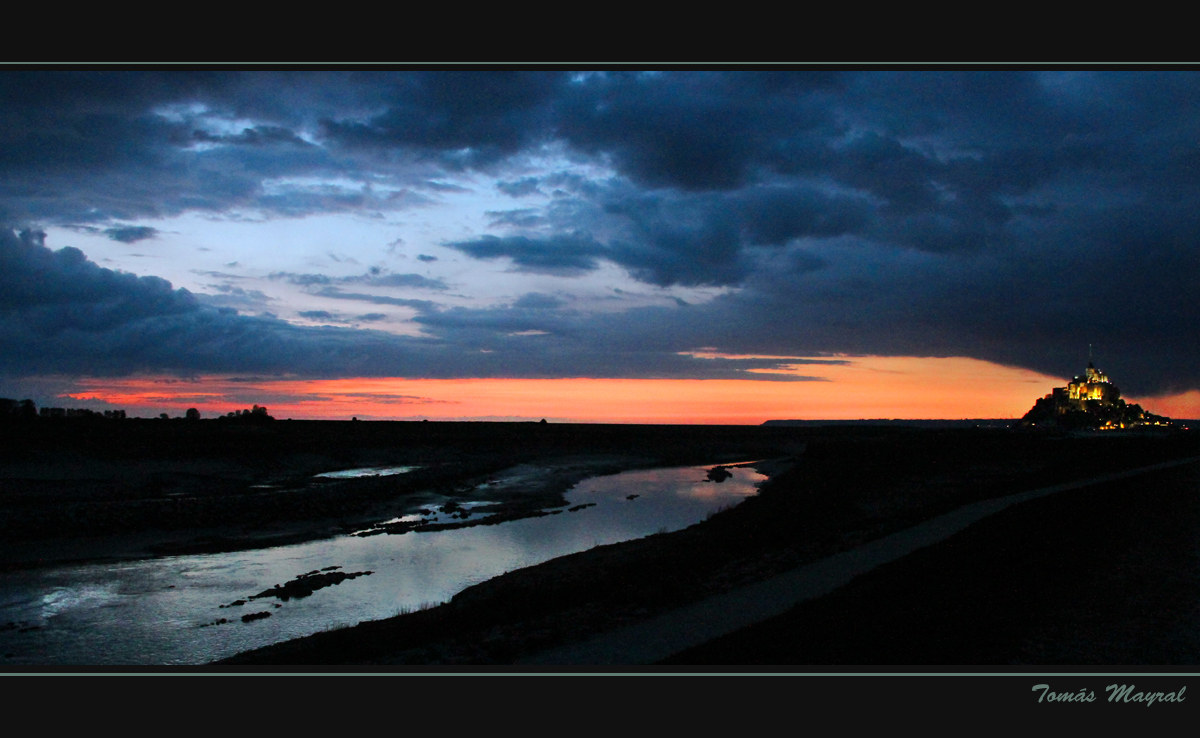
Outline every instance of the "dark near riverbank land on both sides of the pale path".
<path fill-rule="evenodd" d="M 961 505 L 1200 455 L 1193 432 L 763 428 L 757 497 L 232 665 L 503 665 L 767 580 Z M 714 431 L 716 433 L 716 431 Z M 664 436 L 665 437 L 665 436 Z M 1195 664 L 1198 464 L 1022 503 L 671 665 Z"/>

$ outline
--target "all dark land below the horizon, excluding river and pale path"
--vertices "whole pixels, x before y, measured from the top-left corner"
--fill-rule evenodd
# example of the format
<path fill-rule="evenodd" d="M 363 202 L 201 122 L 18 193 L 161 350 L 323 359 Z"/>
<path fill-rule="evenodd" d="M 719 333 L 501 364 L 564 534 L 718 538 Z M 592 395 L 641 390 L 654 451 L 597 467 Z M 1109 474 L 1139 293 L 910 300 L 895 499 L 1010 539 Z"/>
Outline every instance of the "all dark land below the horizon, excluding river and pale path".
<path fill-rule="evenodd" d="M 0 426 L 0 568 L 275 546 L 476 493 L 511 520 L 589 475 L 768 460 L 757 497 L 685 530 L 222 664 L 505 665 L 977 500 L 1194 456 L 1194 431 L 50 419 Z M 421 468 L 314 478 L 384 464 Z M 1022 503 L 666 665 L 1196 664 L 1198 492 L 1192 463 Z"/>

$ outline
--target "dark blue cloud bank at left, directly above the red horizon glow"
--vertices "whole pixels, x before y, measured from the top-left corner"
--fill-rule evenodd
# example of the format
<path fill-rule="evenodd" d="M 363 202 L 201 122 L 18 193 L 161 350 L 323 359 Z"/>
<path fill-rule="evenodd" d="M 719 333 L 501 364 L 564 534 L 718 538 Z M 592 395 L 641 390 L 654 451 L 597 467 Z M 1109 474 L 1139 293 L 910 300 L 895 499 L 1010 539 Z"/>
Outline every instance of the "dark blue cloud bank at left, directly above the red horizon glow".
<path fill-rule="evenodd" d="M 348 328 L 296 326 L 271 316 L 212 307 L 157 277 L 112 271 L 76 248 L 52 251 L 34 232 L 0 230 L 0 374 L 121 376 L 136 372 L 290 373 L 310 377 L 658 377 L 745 376 L 757 364 L 715 366 L 688 356 L 613 344 L 598 349 L 564 338 L 552 355 L 506 334 L 541 330 L 553 313 L 539 307 L 438 312 L 430 302 L 331 294 L 425 311 L 424 338 Z M 236 290 L 236 288 L 234 288 Z M 335 288 L 328 288 L 335 289 Z M 534 300 L 538 301 L 538 300 Z M 444 316 L 444 317 L 443 317 Z M 534 320 L 532 316 L 540 316 Z M 312 319 L 342 320 L 329 311 Z M 379 322 L 364 313 L 348 322 Z M 578 317 L 559 318 L 568 328 Z M 500 350 L 480 349 L 498 346 Z M 692 366 L 694 365 L 694 366 Z M 690 367 L 690 368 L 689 368 Z"/>

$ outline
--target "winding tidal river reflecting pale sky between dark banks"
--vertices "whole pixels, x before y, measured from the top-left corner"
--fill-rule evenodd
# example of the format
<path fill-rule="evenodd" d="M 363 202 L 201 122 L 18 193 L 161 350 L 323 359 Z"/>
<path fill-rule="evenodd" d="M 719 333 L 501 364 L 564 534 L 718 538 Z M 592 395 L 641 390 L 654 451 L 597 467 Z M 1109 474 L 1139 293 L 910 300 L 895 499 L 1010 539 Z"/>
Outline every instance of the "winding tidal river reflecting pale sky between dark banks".
<path fill-rule="evenodd" d="M 596 476 L 566 493 L 574 511 L 494 526 L 5 574 L 0 666 L 205 664 L 443 602 L 594 546 L 678 530 L 755 494 L 766 479 L 733 467 L 718 484 L 706 481 L 708 468 Z M 302 575 L 300 583 L 322 586 L 311 594 L 288 586 Z M 253 599 L 268 590 L 283 596 Z"/>

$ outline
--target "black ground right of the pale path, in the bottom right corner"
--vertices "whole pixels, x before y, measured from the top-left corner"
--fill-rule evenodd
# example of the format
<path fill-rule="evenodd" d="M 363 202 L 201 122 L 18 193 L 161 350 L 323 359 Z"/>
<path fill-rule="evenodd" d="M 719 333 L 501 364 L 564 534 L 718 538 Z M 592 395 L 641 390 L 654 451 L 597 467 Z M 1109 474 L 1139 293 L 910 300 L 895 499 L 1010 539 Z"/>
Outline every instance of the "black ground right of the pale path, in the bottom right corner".
<path fill-rule="evenodd" d="M 1195 665 L 1200 464 L 1062 492 L 666 665 Z"/>

